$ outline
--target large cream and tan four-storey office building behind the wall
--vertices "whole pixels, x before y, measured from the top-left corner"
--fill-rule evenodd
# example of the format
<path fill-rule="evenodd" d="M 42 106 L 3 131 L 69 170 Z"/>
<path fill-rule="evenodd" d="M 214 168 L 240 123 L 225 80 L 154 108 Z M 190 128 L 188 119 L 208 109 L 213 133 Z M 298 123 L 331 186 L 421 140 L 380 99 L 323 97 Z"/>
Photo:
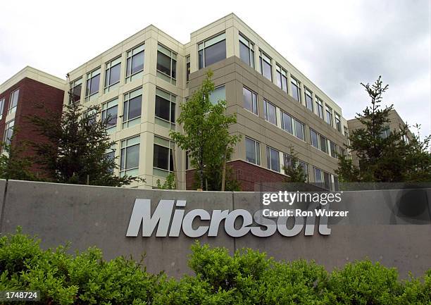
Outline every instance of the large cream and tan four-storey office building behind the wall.
<path fill-rule="evenodd" d="M 169 139 L 179 105 L 213 70 L 212 101 L 226 99 L 242 135 L 230 161 L 243 190 L 280 182 L 293 147 L 310 182 L 337 184 L 337 154 L 345 153 L 342 109 L 272 46 L 230 14 L 182 44 L 150 25 L 70 71 L 75 102 L 100 105 L 110 117 L 118 175 L 139 175 L 151 188 L 177 168 L 178 188 L 192 188 L 185 151 Z M 67 91 L 67 90 L 66 90 Z M 64 103 L 69 102 L 65 94 Z M 180 130 L 181 131 L 181 130 Z"/>

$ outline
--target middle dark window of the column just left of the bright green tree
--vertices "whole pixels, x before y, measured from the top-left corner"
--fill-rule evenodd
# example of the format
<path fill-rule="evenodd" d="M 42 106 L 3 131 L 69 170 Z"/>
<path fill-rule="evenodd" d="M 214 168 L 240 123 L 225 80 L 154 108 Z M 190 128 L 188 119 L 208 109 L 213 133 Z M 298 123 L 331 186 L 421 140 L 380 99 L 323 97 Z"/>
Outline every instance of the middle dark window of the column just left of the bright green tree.
<path fill-rule="evenodd" d="M 175 130 L 176 101 L 177 97 L 175 97 L 175 95 L 156 88 L 156 106 L 154 113 L 154 116 L 156 116 L 156 124 L 162 125 L 170 130 Z"/>

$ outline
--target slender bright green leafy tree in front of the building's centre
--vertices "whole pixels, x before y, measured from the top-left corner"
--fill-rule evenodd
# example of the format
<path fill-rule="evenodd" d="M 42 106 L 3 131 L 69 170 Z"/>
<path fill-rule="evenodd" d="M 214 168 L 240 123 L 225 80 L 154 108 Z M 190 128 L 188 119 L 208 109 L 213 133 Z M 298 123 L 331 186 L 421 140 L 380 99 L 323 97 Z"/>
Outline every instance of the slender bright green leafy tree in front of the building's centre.
<path fill-rule="evenodd" d="M 220 190 L 223 161 L 230 160 L 233 147 L 240 136 L 229 133 L 229 126 L 236 123 L 237 118 L 235 115 L 225 114 L 226 101 L 218 101 L 216 104 L 210 101 L 214 90 L 212 75 L 211 70 L 208 70 L 201 87 L 180 106 L 181 114 L 177 123 L 182 125 L 184 133 L 171 131 L 170 137 L 181 149 L 189 151 L 192 166 L 196 168 L 199 177 L 199 187 Z M 233 179 L 232 175 L 230 178 Z"/>

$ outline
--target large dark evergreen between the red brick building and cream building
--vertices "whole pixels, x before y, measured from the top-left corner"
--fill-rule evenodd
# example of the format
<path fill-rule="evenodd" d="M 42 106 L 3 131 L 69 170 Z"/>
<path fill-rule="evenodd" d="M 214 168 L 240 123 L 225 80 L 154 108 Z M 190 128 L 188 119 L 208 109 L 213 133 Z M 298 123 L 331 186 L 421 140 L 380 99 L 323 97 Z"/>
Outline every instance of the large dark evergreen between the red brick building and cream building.
<path fill-rule="evenodd" d="M 64 106 L 63 113 L 45 111 L 44 117 L 29 117 L 39 134 L 47 139 L 32 142 L 32 147 L 36 152 L 35 163 L 46 169 L 53 182 L 119 187 L 142 180 L 114 175 L 118 166 L 107 153 L 113 151 L 115 142 L 106 132 L 106 123 L 112 118 L 97 119 L 99 106 L 80 106 L 73 102 L 73 93 L 69 92 L 69 104 Z"/>

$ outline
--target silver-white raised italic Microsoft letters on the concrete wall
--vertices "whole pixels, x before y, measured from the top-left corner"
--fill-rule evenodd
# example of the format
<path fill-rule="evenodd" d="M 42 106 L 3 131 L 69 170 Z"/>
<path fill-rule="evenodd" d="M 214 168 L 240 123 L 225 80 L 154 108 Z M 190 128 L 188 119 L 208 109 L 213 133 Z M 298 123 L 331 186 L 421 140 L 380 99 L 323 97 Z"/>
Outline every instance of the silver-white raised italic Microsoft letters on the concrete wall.
<path fill-rule="evenodd" d="M 156 237 L 179 237 L 182 231 L 188 237 L 216 237 L 224 220 L 224 230 L 231 237 L 242 237 L 251 234 L 257 237 L 270 237 L 279 232 L 285 237 L 298 235 L 304 228 L 304 235 L 314 235 L 316 218 L 319 218 L 318 232 L 320 235 L 330 235 L 327 227 L 328 216 L 325 213 L 318 216 L 265 216 L 258 210 L 253 215 L 244 209 L 206 211 L 197 208 L 185 213 L 185 200 L 161 200 L 154 213 L 151 214 L 150 199 L 136 199 L 127 228 L 127 237 L 137 237 L 142 226 L 142 237 L 151 237 L 156 230 Z M 325 206 L 328 208 L 328 206 Z M 319 216 L 320 215 L 320 216 Z M 287 225 L 289 217 L 294 217 L 294 224 Z M 238 218 L 240 218 L 238 220 Z M 203 225 L 193 226 L 199 219 Z M 235 225 L 236 223 L 236 225 Z M 291 227 L 291 228 L 288 228 Z"/>

